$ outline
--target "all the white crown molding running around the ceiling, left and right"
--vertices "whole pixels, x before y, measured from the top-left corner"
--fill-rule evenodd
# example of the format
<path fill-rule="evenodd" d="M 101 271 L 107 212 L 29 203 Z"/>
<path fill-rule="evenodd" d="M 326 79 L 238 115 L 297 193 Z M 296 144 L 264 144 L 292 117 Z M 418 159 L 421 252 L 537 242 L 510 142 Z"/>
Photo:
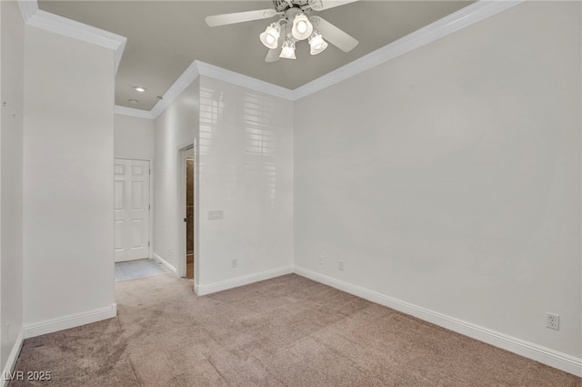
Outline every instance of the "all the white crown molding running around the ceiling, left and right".
<path fill-rule="evenodd" d="M 279 87 L 251 76 L 244 76 L 234 71 L 226 70 L 225 68 L 195 60 L 190 64 L 190 66 L 188 66 L 188 68 L 186 68 L 186 71 L 176 80 L 174 85 L 166 91 L 164 97 L 157 102 L 156 106 L 153 107 L 150 112 L 130 107 L 115 107 L 115 113 L 133 117 L 155 119 L 162 114 L 176 97 L 178 97 L 186 87 L 194 82 L 198 76 L 209 76 L 236 86 L 250 88 L 270 96 L 296 101 L 314 94 L 317 91 L 323 90 L 326 87 L 335 85 L 347 78 L 356 76 L 370 68 L 386 63 L 397 56 L 402 56 L 420 46 L 425 46 L 441 37 L 457 32 L 468 25 L 475 24 L 492 15 L 497 15 L 498 13 L 511 8 L 514 5 L 523 3 L 524 1 L 526 0 L 478 0 L 476 3 L 467 5 L 451 15 L 447 15 L 430 25 L 426 25 L 425 27 L 416 30 L 412 34 L 404 36 L 366 56 L 362 56 L 355 61 L 348 63 L 346 66 L 341 66 L 325 76 L 320 76 L 302 87 L 297 87 L 295 90 Z M 38 4 L 35 0 L 19 0 L 18 3 L 25 22 L 29 25 L 35 25 L 57 34 L 70 36 L 99 46 L 115 49 L 116 71 L 121 56 L 123 55 L 127 38 L 39 10 Z M 149 113 L 149 115 L 147 113 Z"/>

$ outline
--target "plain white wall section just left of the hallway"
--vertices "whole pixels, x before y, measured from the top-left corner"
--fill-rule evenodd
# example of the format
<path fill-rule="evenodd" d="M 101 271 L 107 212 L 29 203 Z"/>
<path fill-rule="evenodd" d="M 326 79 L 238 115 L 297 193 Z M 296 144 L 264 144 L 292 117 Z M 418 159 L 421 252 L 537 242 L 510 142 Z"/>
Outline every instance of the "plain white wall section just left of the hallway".
<path fill-rule="evenodd" d="M 25 26 L 27 335 L 115 315 L 114 87 L 113 50 Z"/>

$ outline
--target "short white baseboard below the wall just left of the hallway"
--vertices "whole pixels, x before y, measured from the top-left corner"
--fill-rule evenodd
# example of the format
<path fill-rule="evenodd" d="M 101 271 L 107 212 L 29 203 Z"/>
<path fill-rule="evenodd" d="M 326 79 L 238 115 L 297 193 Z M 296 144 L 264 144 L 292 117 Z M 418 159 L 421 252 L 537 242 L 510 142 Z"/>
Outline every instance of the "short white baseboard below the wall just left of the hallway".
<path fill-rule="evenodd" d="M 52 333 L 55 331 L 68 330 L 81 325 L 90 324 L 96 321 L 114 318 L 117 315 L 117 304 L 95 311 L 86 311 L 85 313 L 71 314 L 65 317 L 59 317 L 52 320 L 35 322 L 25 325 L 25 339 L 29 337 L 40 336 L 41 334 Z"/>

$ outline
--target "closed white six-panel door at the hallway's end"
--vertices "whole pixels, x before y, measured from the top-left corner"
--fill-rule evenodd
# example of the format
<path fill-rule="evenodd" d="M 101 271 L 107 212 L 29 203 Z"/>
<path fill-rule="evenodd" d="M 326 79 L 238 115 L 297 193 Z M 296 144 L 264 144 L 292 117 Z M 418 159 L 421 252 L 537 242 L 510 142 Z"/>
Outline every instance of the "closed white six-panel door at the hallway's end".
<path fill-rule="evenodd" d="M 149 258 L 149 161 L 115 158 L 115 262 Z"/>

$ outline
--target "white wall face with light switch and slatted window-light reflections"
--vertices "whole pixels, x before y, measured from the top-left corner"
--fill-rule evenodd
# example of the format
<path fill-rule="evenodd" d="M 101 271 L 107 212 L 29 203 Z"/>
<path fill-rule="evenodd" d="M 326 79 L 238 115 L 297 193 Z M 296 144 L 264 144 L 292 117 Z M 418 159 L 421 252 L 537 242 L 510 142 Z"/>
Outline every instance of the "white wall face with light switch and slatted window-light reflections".
<path fill-rule="evenodd" d="M 293 103 L 201 76 L 199 138 L 199 292 L 291 270 Z"/>

